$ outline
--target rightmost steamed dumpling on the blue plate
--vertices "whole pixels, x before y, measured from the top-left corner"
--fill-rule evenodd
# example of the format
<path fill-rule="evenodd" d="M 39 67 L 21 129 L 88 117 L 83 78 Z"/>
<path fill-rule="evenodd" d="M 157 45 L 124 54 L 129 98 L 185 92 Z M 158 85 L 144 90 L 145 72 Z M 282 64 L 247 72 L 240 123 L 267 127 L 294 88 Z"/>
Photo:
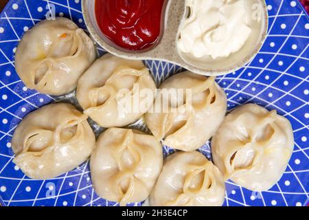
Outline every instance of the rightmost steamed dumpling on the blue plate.
<path fill-rule="evenodd" d="M 214 163 L 226 178 L 256 192 L 282 177 L 293 152 L 290 122 L 257 104 L 232 111 L 211 142 Z"/>

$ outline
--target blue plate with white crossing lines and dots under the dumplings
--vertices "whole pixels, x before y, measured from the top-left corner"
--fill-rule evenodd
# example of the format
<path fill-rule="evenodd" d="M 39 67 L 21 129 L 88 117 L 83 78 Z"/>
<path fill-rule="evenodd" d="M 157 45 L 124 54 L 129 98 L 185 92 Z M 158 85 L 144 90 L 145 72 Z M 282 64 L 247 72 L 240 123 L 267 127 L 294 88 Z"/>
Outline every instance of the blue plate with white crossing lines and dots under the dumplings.
<path fill-rule="evenodd" d="M 229 98 L 229 109 L 255 102 L 276 109 L 293 124 L 295 148 L 282 179 L 262 193 L 227 181 L 225 206 L 304 206 L 309 197 L 309 19 L 299 1 L 267 0 L 269 33 L 254 60 L 218 77 Z M 4 206 L 117 206 L 93 191 L 89 162 L 54 179 L 26 177 L 12 163 L 10 140 L 22 118 L 57 97 L 38 94 L 23 85 L 14 69 L 14 52 L 24 32 L 50 16 L 84 25 L 80 0 L 11 0 L 0 19 L 0 202 Z M 104 51 L 98 48 L 103 54 Z M 145 61 L 157 80 L 181 67 Z M 173 150 L 164 147 L 165 155 Z M 209 143 L 200 151 L 211 157 Z M 141 203 L 130 204 L 140 206 Z"/>

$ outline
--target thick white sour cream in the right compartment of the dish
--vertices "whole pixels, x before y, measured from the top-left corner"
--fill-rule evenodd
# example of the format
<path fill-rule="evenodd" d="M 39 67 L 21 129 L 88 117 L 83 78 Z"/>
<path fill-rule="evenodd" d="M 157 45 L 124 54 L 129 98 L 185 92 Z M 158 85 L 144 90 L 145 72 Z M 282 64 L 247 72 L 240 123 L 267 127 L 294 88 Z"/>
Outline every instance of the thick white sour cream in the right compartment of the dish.
<path fill-rule="evenodd" d="M 189 17 L 181 25 L 177 46 L 194 59 L 231 56 L 255 34 L 251 24 L 259 22 L 248 10 L 248 0 L 186 0 L 186 5 Z"/>

